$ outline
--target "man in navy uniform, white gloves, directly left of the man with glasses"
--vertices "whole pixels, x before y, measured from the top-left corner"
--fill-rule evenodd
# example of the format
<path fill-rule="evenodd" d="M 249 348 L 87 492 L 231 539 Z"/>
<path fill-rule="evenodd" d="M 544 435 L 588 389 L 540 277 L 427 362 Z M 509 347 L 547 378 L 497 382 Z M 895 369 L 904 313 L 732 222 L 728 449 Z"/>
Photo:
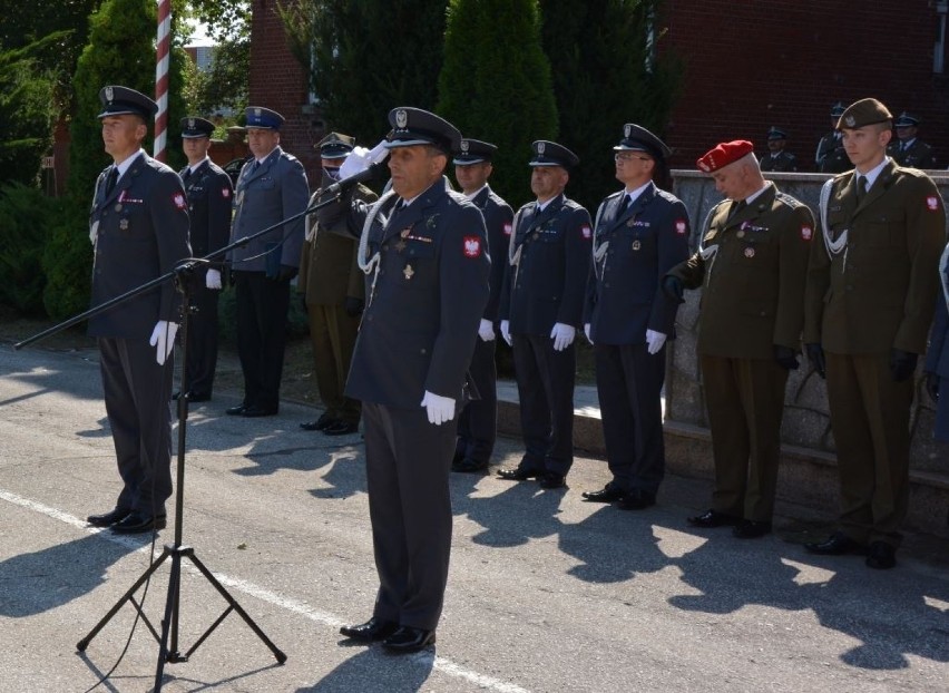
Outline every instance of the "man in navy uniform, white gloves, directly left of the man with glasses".
<path fill-rule="evenodd" d="M 515 216 L 499 311 L 513 349 L 527 451 L 498 476 L 560 488 L 574 462 L 574 338 L 583 326 L 593 232 L 589 213 L 564 195 L 577 155 L 544 139 L 532 148 L 537 202 Z"/>

